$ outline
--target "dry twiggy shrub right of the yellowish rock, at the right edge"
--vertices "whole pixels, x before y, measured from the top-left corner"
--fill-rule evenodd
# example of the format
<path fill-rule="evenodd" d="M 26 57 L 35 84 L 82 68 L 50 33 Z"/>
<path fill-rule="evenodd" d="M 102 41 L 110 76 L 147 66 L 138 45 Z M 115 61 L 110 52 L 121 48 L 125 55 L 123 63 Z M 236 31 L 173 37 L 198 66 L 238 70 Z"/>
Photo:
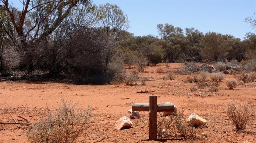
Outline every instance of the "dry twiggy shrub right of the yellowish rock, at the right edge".
<path fill-rule="evenodd" d="M 231 101 L 225 109 L 226 115 L 229 120 L 233 122 L 237 130 L 243 130 L 245 126 L 254 121 L 254 107 L 253 104 L 247 102 L 245 104 L 238 104 L 235 101 Z"/>

